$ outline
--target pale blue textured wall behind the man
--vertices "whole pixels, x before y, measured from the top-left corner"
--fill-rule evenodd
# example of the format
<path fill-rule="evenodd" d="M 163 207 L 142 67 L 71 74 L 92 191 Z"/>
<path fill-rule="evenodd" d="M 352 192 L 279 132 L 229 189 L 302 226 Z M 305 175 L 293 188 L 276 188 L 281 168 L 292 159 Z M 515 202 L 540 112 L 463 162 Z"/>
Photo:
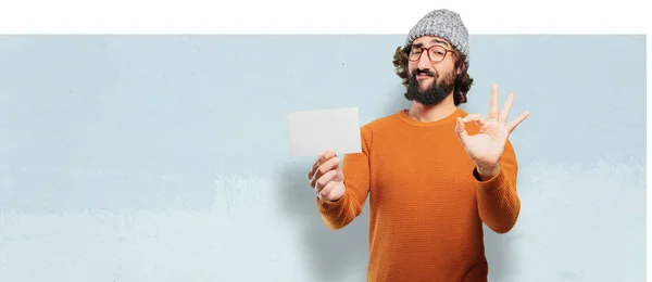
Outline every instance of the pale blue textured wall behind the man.
<path fill-rule="evenodd" d="M 645 37 L 472 36 L 521 162 L 490 281 L 645 275 Z M 321 221 L 289 111 L 408 107 L 402 36 L 0 37 L 0 281 L 364 281 L 367 209 Z"/>

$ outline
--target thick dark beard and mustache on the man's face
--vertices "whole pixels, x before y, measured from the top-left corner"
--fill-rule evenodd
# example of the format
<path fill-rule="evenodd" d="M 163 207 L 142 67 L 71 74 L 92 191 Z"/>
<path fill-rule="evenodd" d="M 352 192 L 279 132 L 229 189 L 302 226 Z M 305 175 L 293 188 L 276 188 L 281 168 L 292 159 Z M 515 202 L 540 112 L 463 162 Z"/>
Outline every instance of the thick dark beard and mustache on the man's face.
<path fill-rule="evenodd" d="M 434 82 L 423 93 L 418 90 L 418 80 L 416 80 L 416 76 L 421 73 L 426 73 L 427 75 L 434 78 Z M 410 82 L 408 85 L 408 92 L 405 92 L 405 98 L 410 101 L 416 101 L 424 105 L 438 104 L 443 99 L 446 99 L 451 93 L 451 91 L 453 91 L 453 88 L 455 86 L 451 75 L 446 77 L 441 81 L 441 84 L 437 84 L 438 77 L 439 76 L 436 76 L 430 70 L 416 69 L 414 74 L 412 74 L 412 77 L 410 77 Z"/>

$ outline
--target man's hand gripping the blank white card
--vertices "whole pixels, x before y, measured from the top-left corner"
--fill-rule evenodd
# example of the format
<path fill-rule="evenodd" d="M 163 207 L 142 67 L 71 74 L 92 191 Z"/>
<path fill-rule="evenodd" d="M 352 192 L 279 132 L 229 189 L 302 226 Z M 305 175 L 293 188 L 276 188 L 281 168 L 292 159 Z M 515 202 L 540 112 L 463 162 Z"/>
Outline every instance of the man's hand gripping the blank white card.
<path fill-rule="evenodd" d="M 336 202 L 344 195 L 344 174 L 335 152 L 319 155 L 308 172 L 310 185 L 322 201 Z"/>

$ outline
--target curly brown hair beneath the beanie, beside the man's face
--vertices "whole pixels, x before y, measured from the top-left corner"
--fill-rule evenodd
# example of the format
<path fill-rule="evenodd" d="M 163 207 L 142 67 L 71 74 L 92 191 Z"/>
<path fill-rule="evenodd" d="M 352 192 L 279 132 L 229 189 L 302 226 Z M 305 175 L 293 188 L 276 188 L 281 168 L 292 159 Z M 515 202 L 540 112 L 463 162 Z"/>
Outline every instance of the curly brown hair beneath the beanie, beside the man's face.
<path fill-rule="evenodd" d="M 394 65 L 394 70 L 397 75 L 402 79 L 403 86 L 408 88 L 410 84 L 410 70 L 408 69 L 408 52 L 410 47 L 401 49 L 401 47 L 397 48 L 394 52 L 392 63 Z M 460 53 L 454 50 L 457 60 L 455 60 L 455 68 L 460 69 L 460 75 L 455 76 L 455 84 L 453 88 L 453 101 L 456 105 L 462 103 L 466 103 L 466 93 L 471 90 L 471 86 L 473 85 L 473 78 L 468 75 L 468 61 L 466 60 L 466 55 Z M 408 99 L 408 93 L 404 93 L 405 99 Z"/>

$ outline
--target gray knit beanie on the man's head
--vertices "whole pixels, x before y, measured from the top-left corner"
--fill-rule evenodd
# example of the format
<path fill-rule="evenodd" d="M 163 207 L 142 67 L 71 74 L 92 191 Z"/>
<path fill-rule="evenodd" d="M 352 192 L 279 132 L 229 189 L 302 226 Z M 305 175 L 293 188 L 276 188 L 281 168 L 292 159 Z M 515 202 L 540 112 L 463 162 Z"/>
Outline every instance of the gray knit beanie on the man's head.
<path fill-rule="evenodd" d="M 460 15 L 453 11 L 441 9 L 427 13 L 412 27 L 403 48 L 410 47 L 414 39 L 422 36 L 441 37 L 468 56 L 468 30 Z"/>

